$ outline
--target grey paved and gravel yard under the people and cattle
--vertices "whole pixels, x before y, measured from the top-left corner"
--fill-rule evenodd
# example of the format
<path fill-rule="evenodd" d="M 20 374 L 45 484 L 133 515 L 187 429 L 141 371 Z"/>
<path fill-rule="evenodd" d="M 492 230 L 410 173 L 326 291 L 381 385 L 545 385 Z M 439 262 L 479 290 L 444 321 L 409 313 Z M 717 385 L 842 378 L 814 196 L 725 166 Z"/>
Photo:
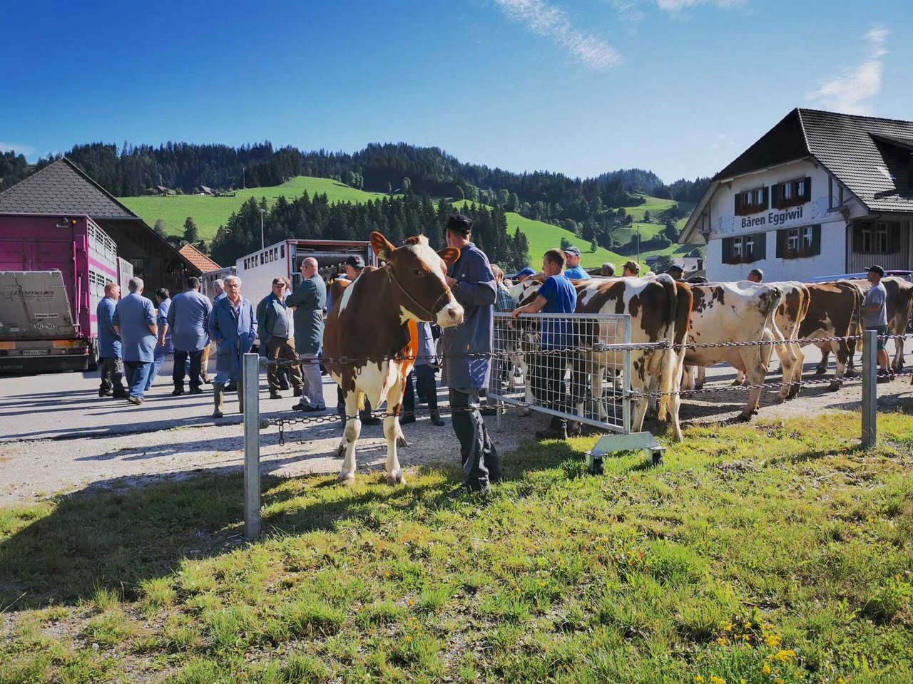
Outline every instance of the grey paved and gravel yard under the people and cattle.
<path fill-rule="evenodd" d="M 817 379 L 812 370 L 816 361 L 811 358 L 806 363 L 807 380 Z M 167 375 L 168 371 L 166 378 Z M 705 391 L 683 399 L 683 424 L 736 420 L 747 391 L 729 389 L 734 377 L 731 368 L 708 369 Z M 776 380 L 769 378 L 771 382 Z M 199 397 L 173 398 L 170 384 L 160 380 L 142 408 L 132 409 L 126 402 L 99 399 L 96 388 L 97 379 L 79 373 L 0 379 L 0 505 L 28 503 L 121 478 L 140 482 L 151 476 L 184 477 L 194 472 L 240 470 L 240 416 L 230 414 L 215 425 L 208 418 L 212 410 L 209 389 Z M 783 404 L 775 403 L 776 390 L 775 386 L 764 390 L 761 419 L 857 410 L 861 403 L 861 387 L 853 379 L 836 392 L 829 391 L 826 383 L 807 385 L 798 399 Z M 907 378 L 879 385 L 879 406 L 911 406 L 911 390 Z M 441 390 L 442 397 L 445 391 Z M 327 405 L 335 406 L 335 385 L 327 382 L 324 394 Z M 261 398 L 264 396 L 265 391 Z M 286 410 L 292 401 L 261 399 L 261 411 L 271 418 L 300 416 Z M 446 409 L 446 405 L 442 408 Z M 226 409 L 236 409 L 234 396 Z M 506 455 L 545 419 L 535 414 L 521 418 L 509 412 L 499 430 L 494 418 L 487 422 L 498 451 Z M 656 425 L 648 421 L 645 429 L 651 428 L 656 430 Z M 456 440 L 449 424 L 436 428 L 423 414 L 415 424 L 405 426 L 404 433 L 410 441 L 410 446 L 399 451 L 404 467 L 458 465 Z M 337 422 L 290 426 L 283 446 L 278 445 L 276 428 L 263 430 L 261 435 L 264 474 L 299 476 L 338 472 L 340 468 L 341 461 L 335 456 L 341 439 Z M 674 455 L 674 447 L 670 453 Z M 358 472 L 383 470 L 385 458 L 382 428 L 363 428 L 357 451 Z"/>

